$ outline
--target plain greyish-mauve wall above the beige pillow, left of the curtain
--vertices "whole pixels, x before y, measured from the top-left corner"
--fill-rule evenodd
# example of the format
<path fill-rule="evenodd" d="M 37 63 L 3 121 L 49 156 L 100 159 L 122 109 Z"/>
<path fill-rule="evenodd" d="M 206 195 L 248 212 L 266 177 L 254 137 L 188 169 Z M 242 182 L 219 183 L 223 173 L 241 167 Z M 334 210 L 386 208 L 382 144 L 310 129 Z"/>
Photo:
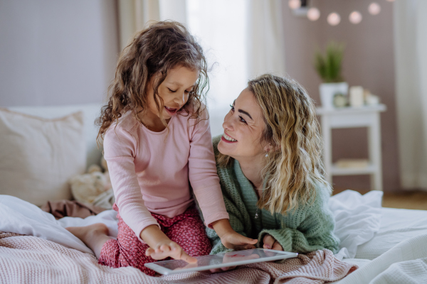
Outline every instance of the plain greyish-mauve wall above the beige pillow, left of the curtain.
<path fill-rule="evenodd" d="M 0 0 L 0 107 L 97 103 L 114 77 L 115 0 Z"/>

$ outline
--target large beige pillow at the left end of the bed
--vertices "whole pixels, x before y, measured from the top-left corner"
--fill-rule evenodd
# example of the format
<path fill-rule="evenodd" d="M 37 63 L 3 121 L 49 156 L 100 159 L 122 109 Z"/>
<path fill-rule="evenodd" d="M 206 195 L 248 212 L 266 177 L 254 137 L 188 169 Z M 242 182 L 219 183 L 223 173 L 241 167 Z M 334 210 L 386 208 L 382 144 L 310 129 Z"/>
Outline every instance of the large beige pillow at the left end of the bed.
<path fill-rule="evenodd" d="M 0 108 L 0 195 L 38 206 L 71 198 L 68 179 L 85 172 L 83 113 L 42 119 Z"/>

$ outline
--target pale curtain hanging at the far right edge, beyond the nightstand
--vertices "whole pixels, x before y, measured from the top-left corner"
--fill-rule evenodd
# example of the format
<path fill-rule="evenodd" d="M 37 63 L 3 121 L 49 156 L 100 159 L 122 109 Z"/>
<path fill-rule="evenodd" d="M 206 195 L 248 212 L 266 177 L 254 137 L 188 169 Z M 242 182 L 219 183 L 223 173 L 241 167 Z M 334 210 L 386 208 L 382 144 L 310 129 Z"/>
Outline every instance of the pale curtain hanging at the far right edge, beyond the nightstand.
<path fill-rule="evenodd" d="M 401 185 L 427 190 L 427 1 L 394 6 Z"/>

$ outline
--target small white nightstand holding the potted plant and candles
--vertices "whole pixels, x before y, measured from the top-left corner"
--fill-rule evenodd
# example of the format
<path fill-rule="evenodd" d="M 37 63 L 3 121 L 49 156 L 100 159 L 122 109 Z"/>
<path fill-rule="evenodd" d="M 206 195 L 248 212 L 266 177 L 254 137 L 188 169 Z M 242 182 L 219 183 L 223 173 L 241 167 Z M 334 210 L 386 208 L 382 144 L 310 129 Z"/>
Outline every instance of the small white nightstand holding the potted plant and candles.
<path fill-rule="evenodd" d="M 324 145 L 323 161 L 326 178 L 332 182 L 333 175 L 371 175 L 371 190 L 382 190 L 381 170 L 381 124 L 379 113 L 386 111 L 384 104 L 341 109 L 317 108 L 321 116 Z M 368 128 L 369 165 L 366 168 L 337 168 L 332 164 L 332 129 L 353 127 Z"/>

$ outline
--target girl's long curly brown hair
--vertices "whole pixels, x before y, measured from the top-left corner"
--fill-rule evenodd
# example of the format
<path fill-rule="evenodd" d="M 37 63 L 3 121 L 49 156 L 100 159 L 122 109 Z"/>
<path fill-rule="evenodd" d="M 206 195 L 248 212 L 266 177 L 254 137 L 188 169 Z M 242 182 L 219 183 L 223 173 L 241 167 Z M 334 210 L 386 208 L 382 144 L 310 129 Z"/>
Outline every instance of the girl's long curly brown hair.
<path fill-rule="evenodd" d="M 95 121 L 95 124 L 100 126 L 97 138 L 103 138 L 113 121 L 118 121 L 126 111 L 132 111 L 135 119 L 142 123 L 138 114 L 147 108 L 147 86 L 152 76 L 156 74 L 159 77 L 152 86 L 153 99 L 159 110 L 160 119 L 167 127 L 167 122 L 160 111 L 164 106 L 158 88 L 167 77 L 168 71 L 178 66 L 200 72 L 188 101 L 180 111 L 180 113 L 185 111 L 187 115 L 191 112 L 191 118 L 199 119 L 201 112 L 204 111 L 203 103 L 206 99 L 204 90 L 209 89 L 203 49 L 181 23 L 154 22 L 138 32 L 120 54 L 115 79 L 108 87 L 108 92 L 111 92 L 110 99 L 102 107 L 100 117 Z M 191 106 L 191 110 L 186 108 L 188 106 Z"/>

